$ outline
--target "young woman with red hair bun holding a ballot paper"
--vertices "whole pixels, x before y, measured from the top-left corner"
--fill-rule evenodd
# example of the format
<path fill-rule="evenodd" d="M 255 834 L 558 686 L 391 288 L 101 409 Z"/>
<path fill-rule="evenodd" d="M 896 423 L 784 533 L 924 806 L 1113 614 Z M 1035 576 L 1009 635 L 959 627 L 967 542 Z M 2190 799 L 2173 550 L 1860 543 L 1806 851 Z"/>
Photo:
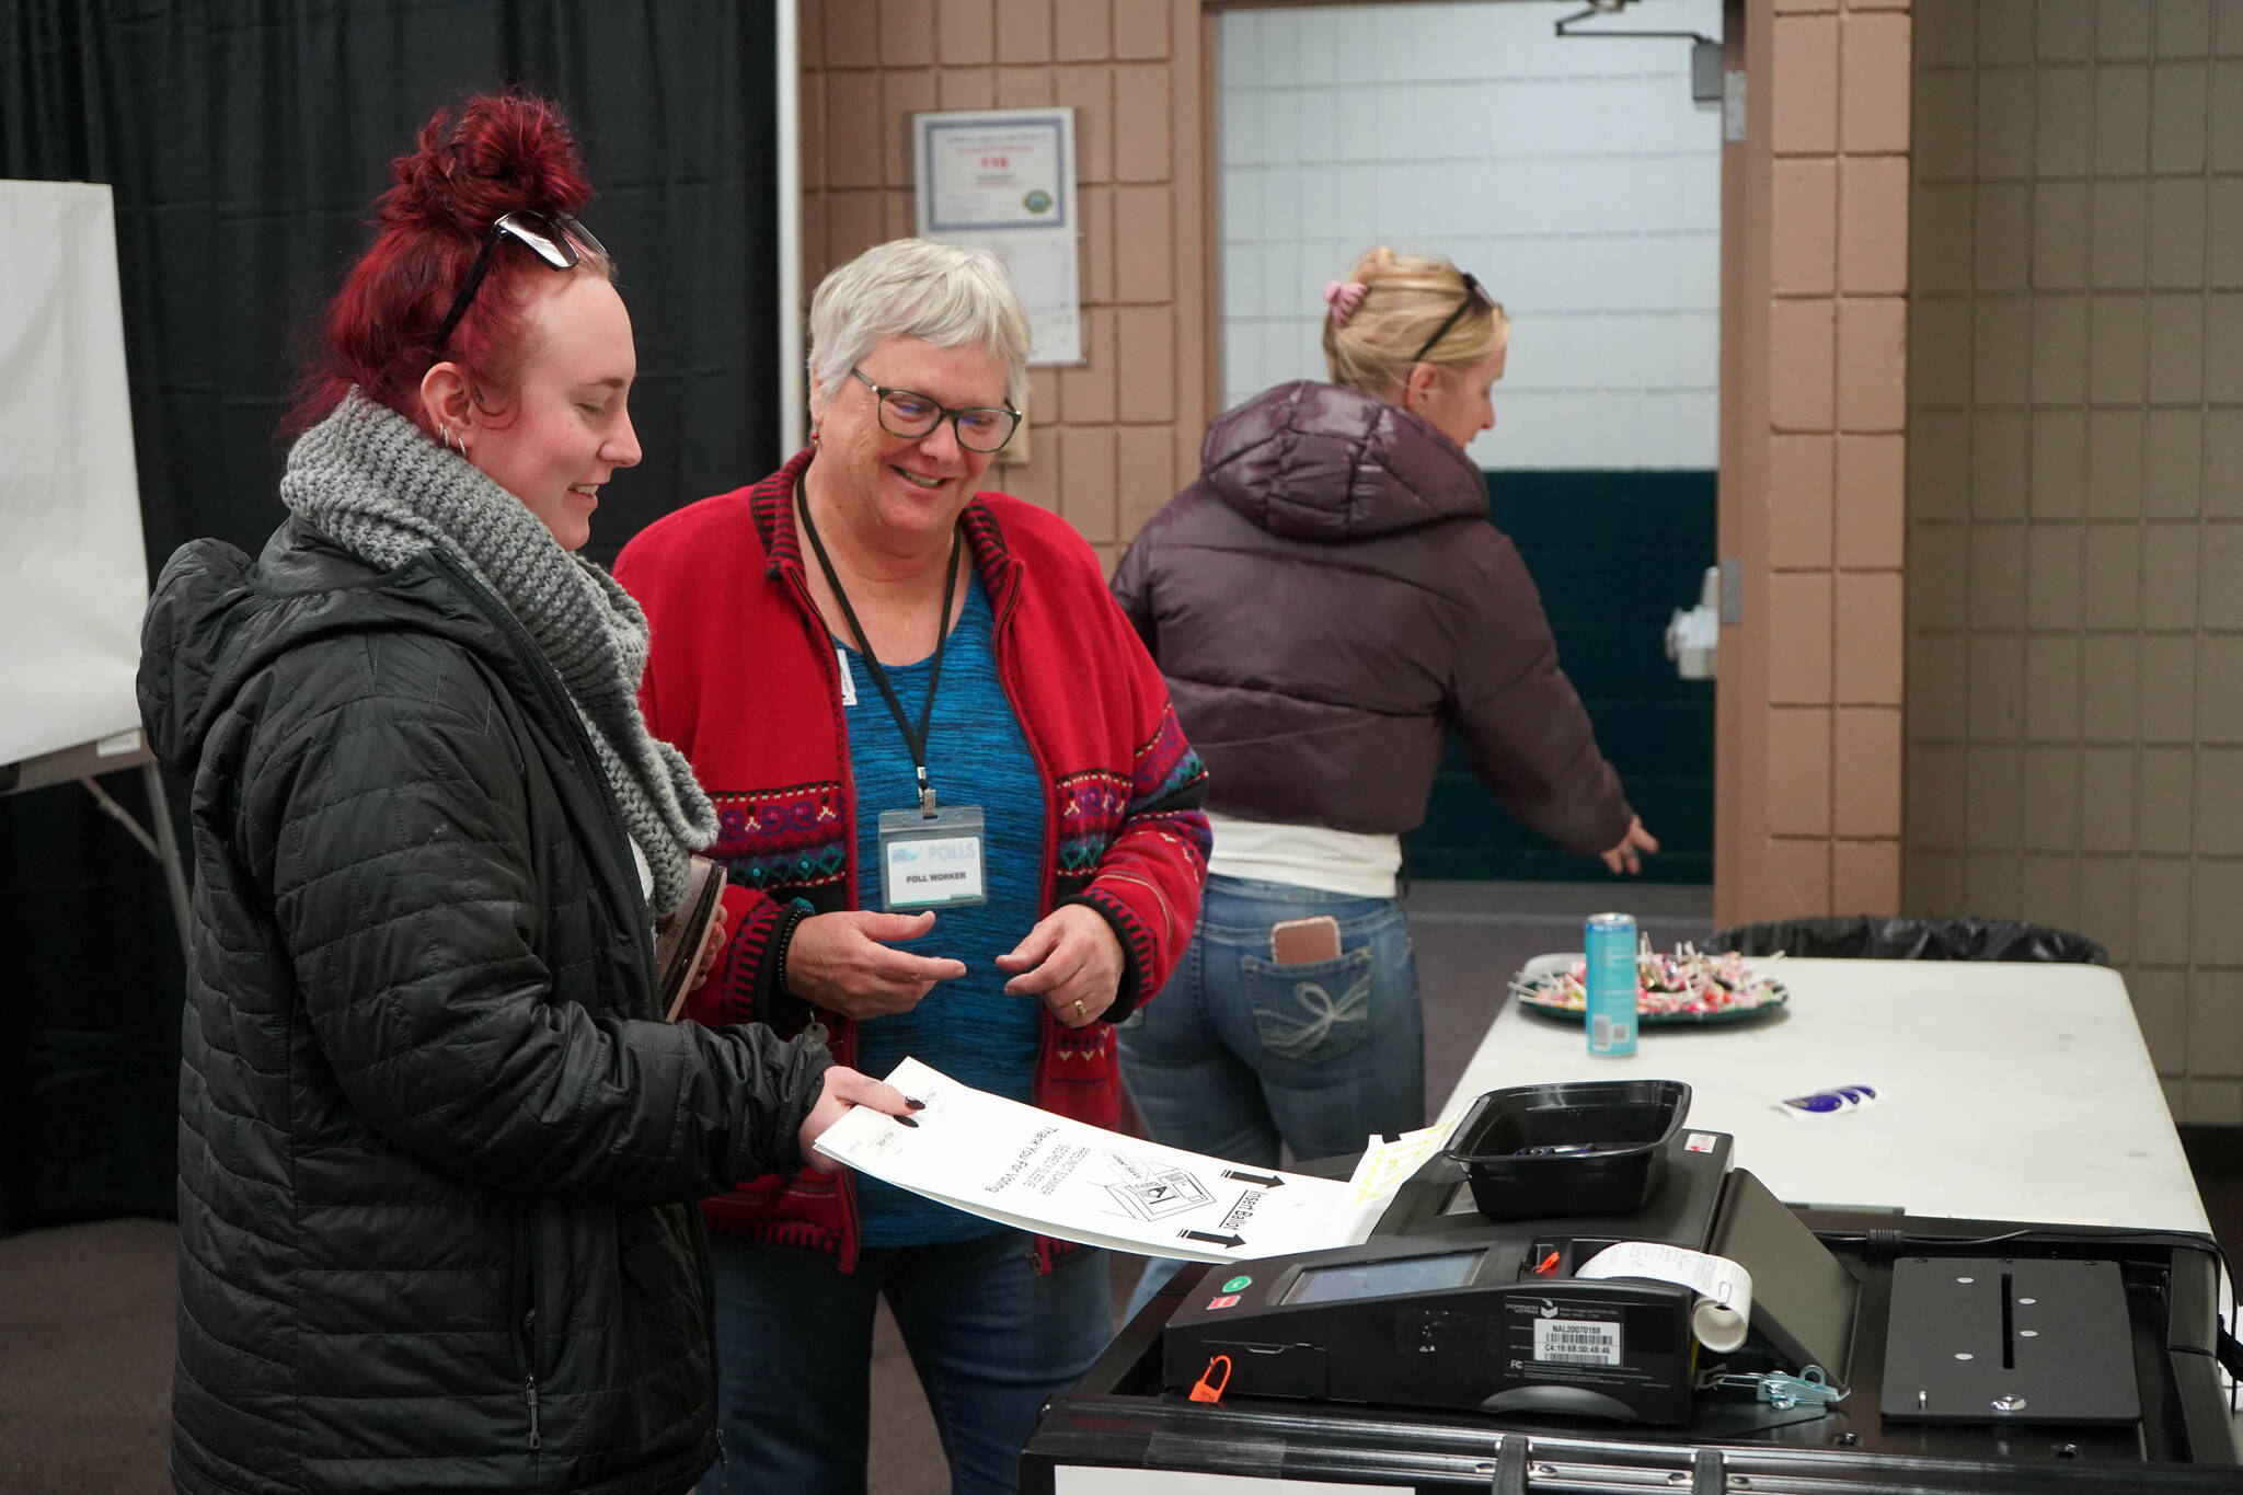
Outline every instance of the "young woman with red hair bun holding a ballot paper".
<path fill-rule="evenodd" d="M 173 1482 L 666 1495 L 720 1450 L 695 1201 L 906 1101 L 662 1022 L 653 921 L 716 818 L 574 554 L 639 459 L 590 186 L 525 94 L 393 175 L 287 522 L 179 549 L 144 625 L 200 874 Z"/>

